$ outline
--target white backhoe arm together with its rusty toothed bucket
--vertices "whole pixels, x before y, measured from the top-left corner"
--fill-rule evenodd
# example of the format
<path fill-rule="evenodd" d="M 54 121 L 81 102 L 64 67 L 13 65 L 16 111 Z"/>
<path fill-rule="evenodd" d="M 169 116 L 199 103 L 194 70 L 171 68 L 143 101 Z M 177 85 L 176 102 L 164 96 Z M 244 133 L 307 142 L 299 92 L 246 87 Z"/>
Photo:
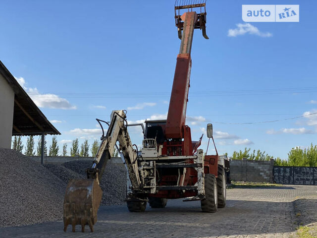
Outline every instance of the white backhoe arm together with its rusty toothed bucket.
<path fill-rule="evenodd" d="M 125 113 L 123 110 L 112 111 L 110 119 L 109 128 L 106 136 L 103 137 L 93 166 L 87 169 L 87 179 L 70 179 L 68 182 L 64 198 L 64 231 L 71 224 L 73 232 L 75 232 L 76 225 L 82 226 L 82 232 L 85 230 L 85 225 L 89 225 L 93 232 L 93 225 L 97 222 L 97 211 L 103 194 L 99 184 L 107 160 L 110 159 L 117 141 L 127 165 L 132 188 L 140 189 L 137 151 L 132 147 L 125 125 Z"/>

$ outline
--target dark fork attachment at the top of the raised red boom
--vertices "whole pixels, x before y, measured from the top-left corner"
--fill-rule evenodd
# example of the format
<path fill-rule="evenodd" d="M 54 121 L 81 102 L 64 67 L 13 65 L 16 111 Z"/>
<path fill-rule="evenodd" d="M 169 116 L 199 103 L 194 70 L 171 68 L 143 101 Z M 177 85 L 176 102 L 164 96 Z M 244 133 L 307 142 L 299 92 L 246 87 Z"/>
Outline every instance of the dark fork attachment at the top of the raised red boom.
<path fill-rule="evenodd" d="M 175 0 L 175 24 L 180 40 L 182 39 L 182 30 L 184 28 L 184 21 L 181 16 L 186 11 L 196 11 L 198 20 L 195 23 L 195 29 L 201 29 L 204 38 L 209 39 L 206 34 L 206 1 L 207 0 Z"/>

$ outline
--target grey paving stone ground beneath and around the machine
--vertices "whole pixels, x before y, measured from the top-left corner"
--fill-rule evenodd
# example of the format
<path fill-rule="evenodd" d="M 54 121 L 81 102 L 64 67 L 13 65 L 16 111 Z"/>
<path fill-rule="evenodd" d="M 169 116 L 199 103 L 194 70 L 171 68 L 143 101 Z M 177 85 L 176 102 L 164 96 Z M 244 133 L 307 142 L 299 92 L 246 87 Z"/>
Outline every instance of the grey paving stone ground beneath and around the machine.
<path fill-rule="evenodd" d="M 0 237 L 296 238 L 296 228 L 317 227 L 317 186 L 282 185 L 227 190 L 227 205 L 201 212 L 200 202 L 168 200 L 162 209 L 130 213 L 125 205 L 102 206 L 95 232 L 62 231 L 62 221 L 0 228 Z M 317 235 L 317 234 L 315 234 Z"/>

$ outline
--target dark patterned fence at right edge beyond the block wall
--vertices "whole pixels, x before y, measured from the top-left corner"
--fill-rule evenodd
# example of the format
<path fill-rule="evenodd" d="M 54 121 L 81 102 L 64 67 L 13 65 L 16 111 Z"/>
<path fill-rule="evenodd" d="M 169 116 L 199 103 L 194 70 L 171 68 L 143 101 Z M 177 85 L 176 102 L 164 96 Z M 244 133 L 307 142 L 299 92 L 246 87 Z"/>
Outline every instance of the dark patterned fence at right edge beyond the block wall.
<path fill-rule="evenodd" d="M 317 185 L 317 167 L 275 166 L 274 181 L 281 184 Z"/>

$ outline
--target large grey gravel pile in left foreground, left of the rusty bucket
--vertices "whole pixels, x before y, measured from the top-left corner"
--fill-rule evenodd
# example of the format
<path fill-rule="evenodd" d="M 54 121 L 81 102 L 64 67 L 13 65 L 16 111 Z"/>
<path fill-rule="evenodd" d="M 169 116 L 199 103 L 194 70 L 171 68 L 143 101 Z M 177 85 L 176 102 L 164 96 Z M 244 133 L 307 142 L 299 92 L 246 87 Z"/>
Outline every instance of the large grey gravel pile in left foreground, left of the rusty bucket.
<path fill-rule="evenodd" d="M 0 149 L 0 226 L 62 219 L 66 183 L 21 153 Z"/>

